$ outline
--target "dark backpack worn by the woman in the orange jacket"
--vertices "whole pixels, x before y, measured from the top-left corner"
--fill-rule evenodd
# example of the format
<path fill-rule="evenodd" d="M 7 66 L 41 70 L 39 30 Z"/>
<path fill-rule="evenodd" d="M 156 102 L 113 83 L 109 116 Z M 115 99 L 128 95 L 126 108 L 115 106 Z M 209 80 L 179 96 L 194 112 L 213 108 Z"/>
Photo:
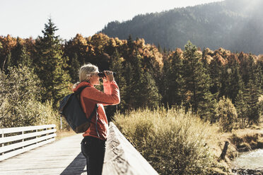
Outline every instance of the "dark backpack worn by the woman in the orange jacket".
<path fill-rule="evenodd" d="M 95 105 L 95 108 L 88 119 L 81 107 L 79 96 L 85 87 L 90 86 L 80 87 L 76 92 L 64 97 L 59 104 L 59 113 L 61 116 L 65 117 L 66 122 L 69 123 L 69 126 L 76 133 L 84 133 L 87 131 L 90 127 L 90 121 L 92 117 L 97 115 L 98 104 Z"/>

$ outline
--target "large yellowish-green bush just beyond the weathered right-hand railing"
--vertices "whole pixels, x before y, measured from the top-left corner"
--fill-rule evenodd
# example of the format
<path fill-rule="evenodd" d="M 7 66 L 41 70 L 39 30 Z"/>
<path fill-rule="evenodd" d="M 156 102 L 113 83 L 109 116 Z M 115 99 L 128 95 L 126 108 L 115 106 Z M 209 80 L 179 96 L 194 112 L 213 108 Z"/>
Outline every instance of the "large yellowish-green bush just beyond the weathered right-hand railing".
<path fill-rule="evenodd" d="M 159 174 L 210 174 L 207 141 L 216 129 L 184 110 L 137 110 L 115 114 L 116 126 Z"/>

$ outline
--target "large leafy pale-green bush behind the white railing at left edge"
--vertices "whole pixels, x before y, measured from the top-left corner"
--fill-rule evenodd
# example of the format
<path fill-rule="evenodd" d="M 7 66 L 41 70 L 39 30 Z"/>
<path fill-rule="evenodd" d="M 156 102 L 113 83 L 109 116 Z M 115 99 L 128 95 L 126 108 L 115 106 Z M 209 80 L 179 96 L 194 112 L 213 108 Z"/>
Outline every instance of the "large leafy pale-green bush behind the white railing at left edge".
<path fill-rule="evenodd" d="M 8 68 L 0 71 L 0 127 L 58 124 L 52 102 L 42 104 L 41 83 L 30 68 Z"/>

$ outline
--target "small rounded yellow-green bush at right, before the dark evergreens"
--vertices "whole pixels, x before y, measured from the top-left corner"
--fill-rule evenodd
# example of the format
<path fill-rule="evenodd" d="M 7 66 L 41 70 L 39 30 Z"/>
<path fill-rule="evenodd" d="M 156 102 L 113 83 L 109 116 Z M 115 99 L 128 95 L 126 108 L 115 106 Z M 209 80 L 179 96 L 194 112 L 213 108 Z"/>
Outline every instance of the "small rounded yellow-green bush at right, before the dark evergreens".
<path fill-rule="evenodd" d="M 223 131 L 232 131 L 234 122 L 238 118 L 237 111 L 230 99 L 223 97 L 218 102 L 216 116 Z"/>

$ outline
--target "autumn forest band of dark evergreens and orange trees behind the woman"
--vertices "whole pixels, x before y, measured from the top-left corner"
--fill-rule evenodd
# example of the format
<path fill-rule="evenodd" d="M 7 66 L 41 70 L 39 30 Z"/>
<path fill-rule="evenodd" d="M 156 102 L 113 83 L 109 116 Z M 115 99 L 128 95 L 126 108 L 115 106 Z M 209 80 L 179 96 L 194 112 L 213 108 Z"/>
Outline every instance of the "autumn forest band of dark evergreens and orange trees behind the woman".
<path fill-rule="evenodd" d="M 109 120 L 116 111 L 175 107 L 226 131 L 259 123 L 263 55 L 199 49 L 190 41 L 168 51 L 131 35 L 119 40 L 103 33 L 66 41 L 57 30 L 49 18 L 36 39 L 0 36 L 1 127 L 59 121 L 59 101 L 87 63 L 117 73 L 121 103 L 106 108 Z"/>

